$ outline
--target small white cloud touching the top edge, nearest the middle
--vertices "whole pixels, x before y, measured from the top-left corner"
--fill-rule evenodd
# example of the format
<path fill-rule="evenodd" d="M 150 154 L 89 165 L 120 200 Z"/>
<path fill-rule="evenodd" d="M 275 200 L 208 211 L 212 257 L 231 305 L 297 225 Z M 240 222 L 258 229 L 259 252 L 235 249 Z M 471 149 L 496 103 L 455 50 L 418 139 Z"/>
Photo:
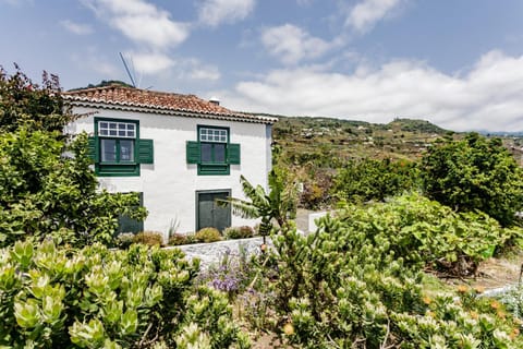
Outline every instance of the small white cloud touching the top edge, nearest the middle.
<path fill-rule="evenodd" d="M 199 22 L 217 26 L 244 20 L 254 10 L 255 0 L 206 0 L 198 10 Z"/>

